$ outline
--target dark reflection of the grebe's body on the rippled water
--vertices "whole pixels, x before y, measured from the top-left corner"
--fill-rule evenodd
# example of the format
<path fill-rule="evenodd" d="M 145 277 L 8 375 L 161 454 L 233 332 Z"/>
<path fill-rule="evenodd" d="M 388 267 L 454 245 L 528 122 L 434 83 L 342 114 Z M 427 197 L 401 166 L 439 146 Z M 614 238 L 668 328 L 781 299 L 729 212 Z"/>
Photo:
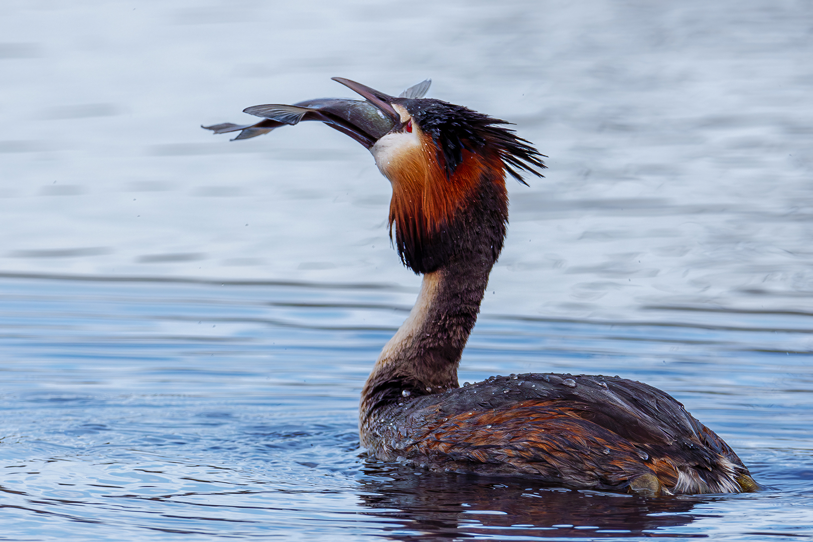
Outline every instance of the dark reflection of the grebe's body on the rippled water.
<path fill-rule="evenodd" d="M 438 476 L 386 466 L 371 466 L 365 474 L 364 505 L 382 509 L 372 513 L 376 516 L 401 520 L 398 526 L 384 527 L 393 540 L 420 539 L 415 531 L 428 535 L 427 538 L 454 538 L 461 533 L 523 538 L 589 536 L 591 540 L 639 537 L 651 535 L 661 527 L 689 525 L 694 519 L 689 513 L 704 502 L 692 496 L 642 499 L 537 488 L 527 481 Z"/>

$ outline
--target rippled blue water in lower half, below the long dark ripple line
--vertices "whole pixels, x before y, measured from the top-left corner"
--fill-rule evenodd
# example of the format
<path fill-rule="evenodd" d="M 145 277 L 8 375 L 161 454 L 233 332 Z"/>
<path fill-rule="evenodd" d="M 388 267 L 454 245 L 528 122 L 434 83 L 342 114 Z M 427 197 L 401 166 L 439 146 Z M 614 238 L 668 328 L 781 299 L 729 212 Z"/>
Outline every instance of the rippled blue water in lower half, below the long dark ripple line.
<path fill-rule="evenodd" d="M 0 292 L 2 540 L 813 535 L 813 354 L 783 349 L 809 340 L 813 315 L 715 314 L 717 325 L 483 315 L 461 381 L 644 380 L 769 487 L 646 499 L 366 457 L 357 401 L 408 309 L 393 302 L 398 289 L 7 277 Z"/>

